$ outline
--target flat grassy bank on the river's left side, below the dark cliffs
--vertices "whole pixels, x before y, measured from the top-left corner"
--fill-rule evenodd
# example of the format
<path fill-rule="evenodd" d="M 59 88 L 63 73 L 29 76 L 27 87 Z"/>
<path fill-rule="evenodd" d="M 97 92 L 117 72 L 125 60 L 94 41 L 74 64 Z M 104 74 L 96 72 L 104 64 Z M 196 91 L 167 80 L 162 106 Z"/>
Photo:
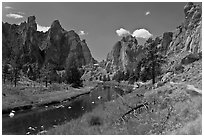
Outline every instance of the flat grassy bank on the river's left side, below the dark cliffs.
<path fill-rule="evenodd" d="M 14 87 L 11 84 L 3 84 L 2 113 L 58 104 L 88 94 L 96 85 L 97 83 L 89 82 L 85 83 L 84 87 L 73 88 L 70 85 L 57 83 L 48 85 L 48 87 L 44 85 L 27 86 L 24 84 Z"/>

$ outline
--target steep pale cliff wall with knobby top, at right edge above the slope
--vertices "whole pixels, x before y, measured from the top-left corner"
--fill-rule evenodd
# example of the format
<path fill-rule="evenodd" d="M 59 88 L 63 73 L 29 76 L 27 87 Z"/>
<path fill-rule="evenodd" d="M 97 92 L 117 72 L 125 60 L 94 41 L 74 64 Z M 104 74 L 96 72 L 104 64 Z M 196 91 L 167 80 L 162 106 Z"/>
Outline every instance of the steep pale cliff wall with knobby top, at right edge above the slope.
<path fill-rule="evenodd" d="M 185 20 L 173 33 L 169 54 L 188 51 L 200 53 L 202 51 L 202 7 L 192 2 L 184 7 Z"/>

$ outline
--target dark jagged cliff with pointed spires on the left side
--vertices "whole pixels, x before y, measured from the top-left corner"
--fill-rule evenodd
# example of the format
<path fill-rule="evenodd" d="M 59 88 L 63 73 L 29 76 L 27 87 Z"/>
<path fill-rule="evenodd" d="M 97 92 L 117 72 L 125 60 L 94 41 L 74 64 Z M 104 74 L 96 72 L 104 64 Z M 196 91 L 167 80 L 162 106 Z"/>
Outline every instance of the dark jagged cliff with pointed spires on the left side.
<path fill-rule="evenodd" d="M 22 65 L 39 67 L 49 62 L 57 70 L 96 62 L 85 40 L 81 41 L 73 30 L 64 30 L 55 20 L 47 32 L 39 32 L 35 16 L 20 25 L 2 23 L 2 50 L 3 60 L 18 57 Z"/>

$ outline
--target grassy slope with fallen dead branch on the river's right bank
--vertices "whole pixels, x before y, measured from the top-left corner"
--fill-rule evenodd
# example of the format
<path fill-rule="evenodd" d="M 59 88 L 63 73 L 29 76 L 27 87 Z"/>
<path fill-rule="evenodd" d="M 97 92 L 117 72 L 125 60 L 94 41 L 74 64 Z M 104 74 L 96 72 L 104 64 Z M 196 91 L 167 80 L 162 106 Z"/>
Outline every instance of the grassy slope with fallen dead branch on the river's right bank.
<path fill-rule="evenodd" d="M 140 91 L 142 94 L 142 91 Z M 184 87 L 162 86 L 154 90 L 127 94 L 123 99 L 106 102 L 81 118 L 56 128 L 49 135 L 154 135 L 154 134 L 201 134 L 202 97 L 191 97 Z M 124 103 L 125 101 L 125 103 Z M 121 116 L 141 102 L 142 107 Z"/>

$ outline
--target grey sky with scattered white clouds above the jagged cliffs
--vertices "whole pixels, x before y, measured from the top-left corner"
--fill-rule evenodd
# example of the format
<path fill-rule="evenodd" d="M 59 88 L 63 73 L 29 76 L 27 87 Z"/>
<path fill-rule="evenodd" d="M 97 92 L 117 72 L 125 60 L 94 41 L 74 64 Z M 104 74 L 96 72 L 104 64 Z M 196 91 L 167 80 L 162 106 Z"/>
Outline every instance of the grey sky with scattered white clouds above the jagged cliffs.
<path fill-rule="evenodd" d="M 122 36 L 139 42 L 173 31 L 184 20 L 186 2 L 3 2 L 2 21 L 19 24 L 36 16 L 38 30 L 46 31 L 54 20 L 86 39 L 92 56 L 101 61 Z"/>

